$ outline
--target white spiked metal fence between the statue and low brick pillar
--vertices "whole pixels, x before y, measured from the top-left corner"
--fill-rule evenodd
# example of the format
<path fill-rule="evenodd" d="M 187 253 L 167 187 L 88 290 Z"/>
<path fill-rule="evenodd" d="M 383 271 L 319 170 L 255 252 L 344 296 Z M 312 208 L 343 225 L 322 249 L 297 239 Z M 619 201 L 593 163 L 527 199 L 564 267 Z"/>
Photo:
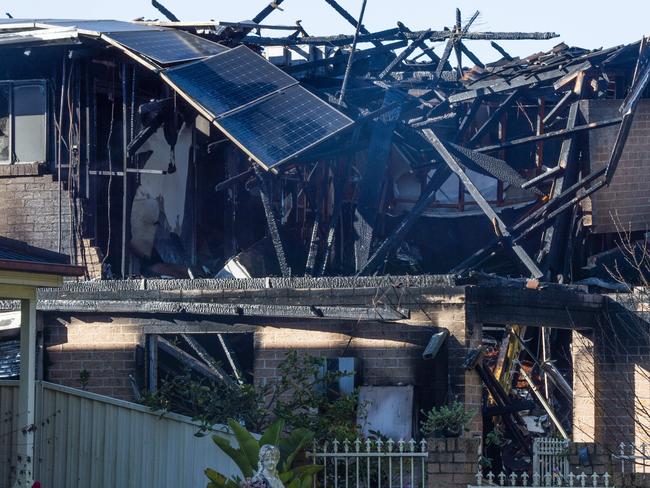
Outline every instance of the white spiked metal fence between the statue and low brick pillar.
<path fill-rule="evenodd" d="M 324 467 L 314 488 L 426 488 L 427 442 L 357 439 L 314 444 L 307 453 Z"/>

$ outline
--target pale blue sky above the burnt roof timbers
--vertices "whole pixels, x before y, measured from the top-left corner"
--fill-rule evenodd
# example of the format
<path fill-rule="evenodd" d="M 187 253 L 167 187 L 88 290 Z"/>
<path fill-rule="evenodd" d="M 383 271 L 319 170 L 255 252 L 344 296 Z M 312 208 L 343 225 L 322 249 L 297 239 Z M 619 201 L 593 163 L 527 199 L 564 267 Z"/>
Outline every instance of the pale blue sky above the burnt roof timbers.
<path fill-rule="evenodd" d="M 181 20 L 245 20 L 253 17 L 269 0 L 162 0 Z M 602 5 L 600 5 L 602 2 Z M 355 17 L 361 0 L 339 0 Z M 586 48 L 630 43 L 650 34 L 650 2 L 617 0 L 606 3 L 560 0 L 368 0 L 364 24 L 371 31 L 391 28 L 401 20 L 413 30 L 442 29 L 454 23 L 455 8 L 469 19 L 479 10 L 475 31 L 553 31 L 560 38 L 550 41 L 509 41 L 501 43 L 511 54 L 526 56 L 548 50 L 564 41 Z M 4 11 L 14 17 L 41 18 L 158 18 L 160 13 L 149 0 L 9 0 Z M 285 0 L 284 12 L 276 11 L 267 23 L 292 24 L 301 19 L 314 35 L 351 33 L 352 27 L 324 0 Z M 266 31 L 275 33 L 277 31 Z M 469 43 L 479 58 L 491 61 L 498 56 L 487 42 Z M 438 51 L 443 48 L 439 46 Z"/>

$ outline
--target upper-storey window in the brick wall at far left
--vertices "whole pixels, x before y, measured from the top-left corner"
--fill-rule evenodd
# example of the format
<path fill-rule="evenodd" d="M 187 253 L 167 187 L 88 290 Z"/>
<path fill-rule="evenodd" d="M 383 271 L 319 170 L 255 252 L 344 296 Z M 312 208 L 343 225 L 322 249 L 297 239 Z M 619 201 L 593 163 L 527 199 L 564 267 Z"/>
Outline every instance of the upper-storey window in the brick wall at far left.
<path fill-rule="evenodd" d="M 0 83 L 0 164 L 46 160 L 45 87 L 44 81 Z"/>

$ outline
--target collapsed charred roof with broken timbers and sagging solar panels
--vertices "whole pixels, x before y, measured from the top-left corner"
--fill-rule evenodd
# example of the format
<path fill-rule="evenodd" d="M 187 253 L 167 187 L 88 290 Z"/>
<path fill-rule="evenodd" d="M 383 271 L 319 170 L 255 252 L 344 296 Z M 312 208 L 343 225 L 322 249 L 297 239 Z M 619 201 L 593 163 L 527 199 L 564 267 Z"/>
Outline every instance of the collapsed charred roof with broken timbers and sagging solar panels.
<path fill-rule="evenodd" d="M 300 23 L 262 24 L 279 3 L 243 23 L 183 23 L 163 7 L 170 22 L 6 19 L 0 48 L 103 45 L 171 87 L 250 158 L 215 183 L 229 208 L 236 188 L 259 195 L 277 260 L 265 273 L 575 278 L 584 202 L 611 183 L 650 80 L 645 40 L 522 59 L 496 41 L 557 35 L 473 32 L 478 12 L 465 23 L 457 12 L 451 29 L 370 32 L 327 0 L 356 33 L 316 37 Z M 291 33 L 261 35 L 282 29 Z M 483 63 L 465 40 L 489 41 L 501 59 Z M 589 113 L 588 102 L 616 99 L 614 116 Z M 161 124 L 132 122 L 131 163 Z M 595 167 L 584 136 L 606 128 L 617 135 Z M 207 134 L 209 152 L 221 139 Z M 224 246 L 224 269 L 236 261 L 243 277 L 259 275 L 236 257 L 251 243 Z"/>

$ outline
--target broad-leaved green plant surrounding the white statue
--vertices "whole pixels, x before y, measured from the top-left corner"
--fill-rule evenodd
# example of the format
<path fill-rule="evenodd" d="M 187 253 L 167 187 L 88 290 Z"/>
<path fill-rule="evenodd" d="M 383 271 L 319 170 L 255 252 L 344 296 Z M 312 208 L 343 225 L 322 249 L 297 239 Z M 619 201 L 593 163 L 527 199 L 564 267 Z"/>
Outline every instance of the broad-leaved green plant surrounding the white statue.
<path fill-rule="evenodd" d="M 301 464 L 294 467 L 307 445 L 314 439 L 314 433 L 307 429 L 296 429 L 289 435 L 282 435 L 285 427 L 283 420 L 277 420 L 269 426 L 262 437 L 257 440 L 245 427 L 233 419 L 228 420 L 239 447 L 233 447 L 223 437 L 213 436 L 214 443 L 237 465 L 244 478 L 250 478 L 257 470 L 260 448 L 265 444 L 276 446 L 280 450 L 278 477 L 287 488 L 309 488 L 313 476 L 322 470 L 322 466 Z M 240 477 L 227 478 L 214 469 L 207 468 L 205 475 L 210 480 L 207 488 L 239 488 L 243 481 Z"/>

